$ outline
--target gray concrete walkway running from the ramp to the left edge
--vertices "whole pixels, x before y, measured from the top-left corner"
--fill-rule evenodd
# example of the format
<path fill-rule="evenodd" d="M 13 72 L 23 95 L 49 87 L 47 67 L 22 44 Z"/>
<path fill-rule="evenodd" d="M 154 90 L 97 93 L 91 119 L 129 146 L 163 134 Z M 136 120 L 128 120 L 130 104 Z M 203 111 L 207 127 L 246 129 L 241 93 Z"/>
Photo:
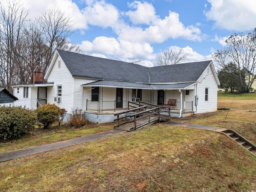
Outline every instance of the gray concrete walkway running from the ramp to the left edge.
<path fill-rule="evenodd" d="M 46 152 L 46 151 L 50 151 L 50 150 L 54 150 L 54 149 L 60 149 L 63 147 L 68 147 L 68 146 L 72 146 L 75 144 L 80 144 L 80 143 L 84 143 L 84 142 L 120 134 L 123 132 L 126 132 L 126 131 L 114 129 L 114 130 L 100 132 L 97 134 L 92 134 L 92 135 L 88 135 L 88 136 L 84 136 L 84 137 L 80 137 L 80 138 L 76 138 L 76 139 L 70 139 L 67 141 L 56 142 L 56 143 L 46 144 L 46 145 L 32 147 L 32 148 L 28 148 L 28 149 L 8 152 L 8 153 L 0 154 L 0 162 L 15 159 L 15 158 L 20 158 L 20 157 L 24 157 L 24 156 L 32 155 L 32 154 L 36 154 L 36 153 Z"/>

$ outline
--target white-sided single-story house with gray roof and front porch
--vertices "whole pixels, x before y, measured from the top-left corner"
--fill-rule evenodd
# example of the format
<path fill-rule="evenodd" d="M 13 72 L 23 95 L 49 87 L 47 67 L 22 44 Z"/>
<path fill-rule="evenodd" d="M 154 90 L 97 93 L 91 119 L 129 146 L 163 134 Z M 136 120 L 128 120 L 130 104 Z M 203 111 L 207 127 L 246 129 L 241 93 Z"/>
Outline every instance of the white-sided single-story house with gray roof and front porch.
<path fill-rule="evenodd" d="M 44 80 L 13 86 L 15 105 L 35 109 L 49 102 L 68 113 L 79 108 L 98 123 L 113 121 L 127 101 L 162 105 L 175 99 L 171 115 L 177 117 L 216 111 L 220 84 L 212 61 L 148 68 L 64 50 L 56 50 Z"/>

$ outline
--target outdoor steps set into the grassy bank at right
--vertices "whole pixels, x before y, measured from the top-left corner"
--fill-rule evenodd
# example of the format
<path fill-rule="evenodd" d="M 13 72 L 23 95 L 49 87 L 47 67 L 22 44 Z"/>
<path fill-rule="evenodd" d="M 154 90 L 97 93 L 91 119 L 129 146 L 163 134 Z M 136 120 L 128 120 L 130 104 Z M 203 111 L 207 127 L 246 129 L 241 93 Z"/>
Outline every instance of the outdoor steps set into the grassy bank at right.
<path fill-rule="evenodd" d="M 227 136 L 238 142 L 241 146 L 243 146 L 246 150 L 250 151 L 254 156 L 256 156 L 256 146 L 250 143 L 248 140 L 240 136 L 234 130 L 224 129 L 221 132 L 225 133 Z"/>

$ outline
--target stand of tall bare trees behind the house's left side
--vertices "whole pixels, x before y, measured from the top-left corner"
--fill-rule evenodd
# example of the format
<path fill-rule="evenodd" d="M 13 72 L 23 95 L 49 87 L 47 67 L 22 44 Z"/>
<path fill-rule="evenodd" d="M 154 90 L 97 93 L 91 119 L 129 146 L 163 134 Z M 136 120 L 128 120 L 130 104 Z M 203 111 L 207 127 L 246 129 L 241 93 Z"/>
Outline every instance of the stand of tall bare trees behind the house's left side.
<path fill-rule="evenodd" d="M 0 3 L 0 86 L 11 91 L 14 84 L 30 84 L 40 63 L 45 74 L 56 48 L 82 52 L 68 42 L 72 34 L 70 18 L 50 9 L 27 21 L 28 11 L 18 0 Z"/>

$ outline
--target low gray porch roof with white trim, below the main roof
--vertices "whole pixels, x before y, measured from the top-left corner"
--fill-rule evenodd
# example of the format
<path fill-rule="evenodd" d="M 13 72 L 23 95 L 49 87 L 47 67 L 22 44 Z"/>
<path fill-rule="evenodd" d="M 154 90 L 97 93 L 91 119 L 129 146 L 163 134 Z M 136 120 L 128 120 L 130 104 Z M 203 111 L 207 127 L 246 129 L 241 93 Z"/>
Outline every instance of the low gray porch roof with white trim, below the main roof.
<path fill-rule="evenodd" d="M 121 82 L 111 80 L 101 80 L 92 83 L 83 84 L 83 87 L 113 87 L 113 88 L 131 88 L 131 89 L 149 89 L 149 90 L 177 90 L 186 89 L 196 82 L 186 82 L 177 84 L 143 84 L 136 82 Z M 189 89 L 194 89 L 192 86 Z"/>

